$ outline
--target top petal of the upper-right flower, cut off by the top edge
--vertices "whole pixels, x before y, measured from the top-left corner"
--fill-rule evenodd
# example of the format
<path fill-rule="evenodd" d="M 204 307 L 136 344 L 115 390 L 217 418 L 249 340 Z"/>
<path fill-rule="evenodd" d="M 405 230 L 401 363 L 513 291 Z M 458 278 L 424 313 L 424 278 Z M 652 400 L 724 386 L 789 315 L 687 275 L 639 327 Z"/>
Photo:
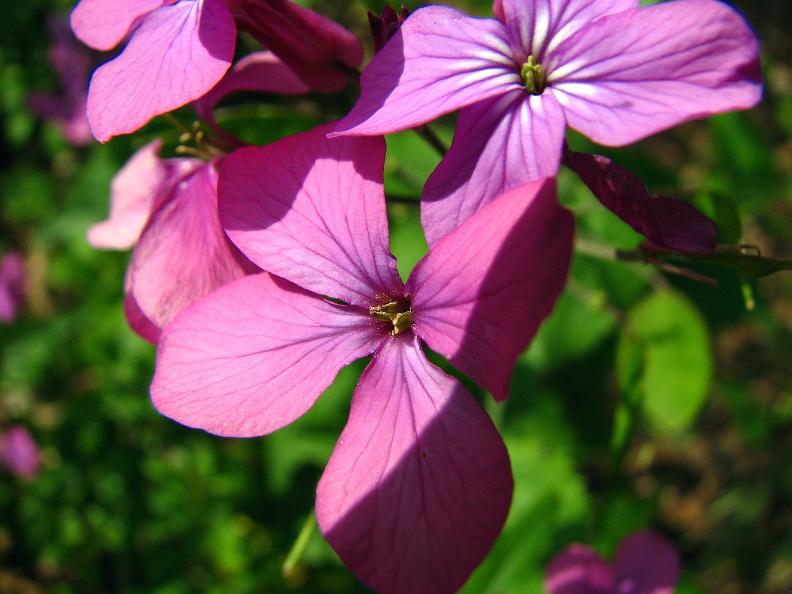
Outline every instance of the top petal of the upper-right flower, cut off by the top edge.
<path fill-rule="evenodd" d="M 495 0 L 520 65 L 528 55 L 542 62 L 563 40 L 606 14 L 638 6 L 638 0 Z"/>

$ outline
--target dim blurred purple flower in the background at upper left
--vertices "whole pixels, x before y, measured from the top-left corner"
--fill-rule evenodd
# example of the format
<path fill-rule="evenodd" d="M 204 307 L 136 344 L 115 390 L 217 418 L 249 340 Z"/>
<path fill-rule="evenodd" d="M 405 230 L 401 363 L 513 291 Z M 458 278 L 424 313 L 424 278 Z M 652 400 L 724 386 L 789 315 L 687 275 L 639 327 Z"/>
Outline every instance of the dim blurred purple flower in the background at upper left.
<path fill-rule="evenodd" d="M 63 138 L 75 147 L 82 147 L 93 140 L 86 116 L 91 58 L 86 48 L 74 39 L 66 21 L 52 17 L 49 27 L 52 38 L 49 61 L 63 93 L 32 93 L 30 109 L 58 122 Z"/>

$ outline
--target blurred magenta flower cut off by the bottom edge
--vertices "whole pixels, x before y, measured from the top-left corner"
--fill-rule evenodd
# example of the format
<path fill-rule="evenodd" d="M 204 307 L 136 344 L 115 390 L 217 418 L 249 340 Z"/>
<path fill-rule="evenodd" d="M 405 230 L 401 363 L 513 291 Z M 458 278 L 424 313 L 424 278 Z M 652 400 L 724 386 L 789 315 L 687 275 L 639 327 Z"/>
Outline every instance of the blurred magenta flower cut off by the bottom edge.
<path fill-rule="evenodd" d="M 570 545 L 547 568 L 550 594 L 672 594 L 680 577 L 680 555 L 651 530 L 624 539 L 609 564 L 589 546 Z"/>

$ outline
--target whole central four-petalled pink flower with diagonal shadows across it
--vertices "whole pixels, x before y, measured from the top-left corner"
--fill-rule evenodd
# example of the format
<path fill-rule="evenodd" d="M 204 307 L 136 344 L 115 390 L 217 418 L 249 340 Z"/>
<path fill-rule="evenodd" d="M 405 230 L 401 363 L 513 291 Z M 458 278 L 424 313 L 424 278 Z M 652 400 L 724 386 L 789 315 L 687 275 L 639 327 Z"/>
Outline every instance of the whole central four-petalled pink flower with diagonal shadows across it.
<path fill-rule="evenodd" d="M 184 425 L 260 436 L 373 354 L 318 485 L 319 526 L 378 592 L 455 592 L 501 531 L 512 477 L 489 417 L 421 341 L 505 398 L 562 290 L 573 218 L 552 180 L 522 185 L 432 246 L 403 284 L 388 250 L 384 140 L 326 139 L 331 127 L 223 163 L 223 225 L 269 272 L 166 326 L 151 398 Z"/>

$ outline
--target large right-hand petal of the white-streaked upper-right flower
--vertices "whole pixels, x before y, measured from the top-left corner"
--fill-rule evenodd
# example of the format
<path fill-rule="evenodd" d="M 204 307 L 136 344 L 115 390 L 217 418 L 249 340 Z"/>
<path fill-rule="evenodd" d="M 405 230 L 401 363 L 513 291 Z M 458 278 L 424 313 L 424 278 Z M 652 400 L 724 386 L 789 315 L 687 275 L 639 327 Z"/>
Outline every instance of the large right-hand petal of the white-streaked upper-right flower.
<path fill-rule="evenodd" d="M 567 121 L 622 146 L 760 100 L 756 36 L 723 2 L 677 0 L 604 17 L 546 63 Z"/>

